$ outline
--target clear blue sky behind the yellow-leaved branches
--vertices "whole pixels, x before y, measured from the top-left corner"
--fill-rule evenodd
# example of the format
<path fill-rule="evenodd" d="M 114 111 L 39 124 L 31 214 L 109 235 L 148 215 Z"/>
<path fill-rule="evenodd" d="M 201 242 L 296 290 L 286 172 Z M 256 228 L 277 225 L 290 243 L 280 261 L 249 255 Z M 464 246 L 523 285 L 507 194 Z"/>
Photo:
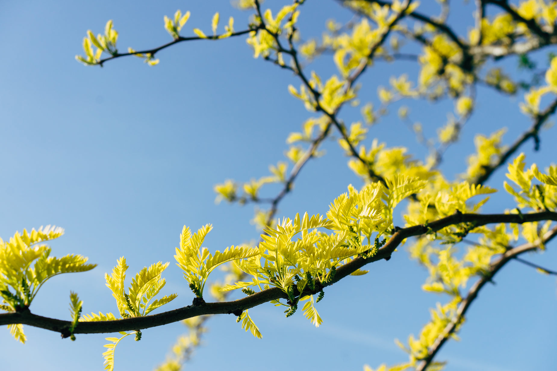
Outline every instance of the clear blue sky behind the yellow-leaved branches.
<path fill-rule="evenodd" d="M 276 8 L 279 2 L 267 3 Z M 431 0 L 423 3 L 426 9 L 435 6 Z M 465 30 L 471 16 L 462 14 L 470 14 L 471 5 L 455 3 L 452 19 Z M 206 240 L 212 251 L 258 238 L 249 222 L 252 206 L 216 205 L 212 187 L 227 178 L 258 178 L 269 164 L 285 160 L 287 135 L 310 116 L 287 92 L 288 84 L 299 85 L 289 72 L 255 60 L 243 37 L 182 43 L 160 52 L 155 67 L 121 58 L 101 69 L 74 59 L 82 53 L 85 32 L 101 32 L 108 19 L 120 32 L 120 50 L 168 42 L 163 16 L 178 8 L 192 12 L 183 35 L 193 27 L 209 31 L 216 11 L 221 19 L 234 16 L 237 30 L 248 16 L 224 0 L 0 2 L 0 236 L 56 224 L 66 235 L 52 243 L 53 255 L 81 253 L 99 264 L 90 272 L 49 281 L 33 302 L 33 313 L 69 319 L 70 290 L 84 300 L 86 313 L 115 312 L 104 273 L 123 255 L 129 276 L 159 260 L 171 262 L 164 274 L 165 294 L 179 296 L 165 309 L 185 306 L 193 294 L 173 258 L 184 224 L 197 229 L 213 223 Z M 308 0 L 301 13 L 302 36 L 319 36 L 330 17 L 346 21 L 350 14 L 332 0 Z M 516 71 L 516 61 L 507 66 Z M 330 58 L 314 68 L 323 76 L 334 72 Z M 415 78 L 416 66 L 375 65 L 362 80 L 361 100 L 377 104 L 377 86 L 402 71 Z M 511 143 L 530 126 L 517 106 L 520 95 L 509 99 L 485 89 L 478 94 L 476 114 L 442 164 L 449 178 L 465 170 L 476 133 L 506 126 L 505 140 Z M 406 103 L 429 135 L 452 110 L 451 102 Z M 360 119 L 359 108 L 346 109 L 342 117 L 347 123 Z M 540 152 L 532 152 L 531 143 L 523 148 L 527 161 L 541 167 L 557 159 L 555 129 L 544 135 Z M 394 114 L 370 129 L 366 143 L 373 138 L 409 147 L 418 158 L 425 155 Z M 307 165 L 281 204 L 280 216 L 324 213 L 348 184 L 360 186 L 337 147 L 326 143 L 326 156 Z M 502 189 L 504 173 L 500 169 L 489 184 Z M 269 187 L 268 196 L 277 189 Z M 504 193 L 492 198 L 484 211 L 514 207 Z M 554 245 L 527 258 L 555 269 Z M 429 319 L 428 307 L 445 298 L 420 290 L 427 272 L 408 260 L 404 248 L 369 269 L 368 275 L 348 277 L 326 290 L 317 306 L 324 319 L 319 329 L 301 313 L 284 318 L 270 304 L 250 310 L 261 340 L 245 333 L 232 315 L 212 318 L 204 345 L 187 369 L 361 370 L 365 363 L 375 368 L 403 362 L 407 355 L 393 339 L 417 334 Z M 495 282 L 471 307 L 462 340 L 451 341 L 438 360 L 448 360 L 449 371 L 554 369 L 555 279 L 511 262 Z M 3 370 L 102 369 L 106 335 L 78 335 L 72 342 L 30 326 L 25 331 L 26 345 L 0 331 Z M 183 325 L 170 324 L 144 330 L 139 342 L 124 341 L 116 350 L 116 370 L 152 369 L 183 331 Z"/>

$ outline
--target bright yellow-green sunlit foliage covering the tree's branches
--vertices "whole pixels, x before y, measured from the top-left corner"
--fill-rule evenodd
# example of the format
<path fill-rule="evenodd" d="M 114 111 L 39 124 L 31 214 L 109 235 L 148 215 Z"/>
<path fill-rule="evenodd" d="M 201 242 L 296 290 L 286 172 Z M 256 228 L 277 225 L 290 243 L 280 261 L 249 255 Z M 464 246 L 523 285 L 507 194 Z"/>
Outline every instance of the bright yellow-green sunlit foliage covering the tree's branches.
<path fill-rule="evenodd" d="M 557 57 L 548 54 L 546 69 L 537 69 L 537 62 L 529 57 L 532 52 L 557 43 L 557 2 L 476 2 L 475 23 L 465 35 L 458 35 L 447 22 L 451 7 L 448 1 L 438 1 L 439 14 L 421 13 L 420 3 L 411 0 L 339 1 L 353 12 L 353 19 L 344 24 L 329 19 L 320 37 L 304 39 L 299 20 L 305 16 L 305 2 L 294 0 L 273 8 L 274 11 L 264 8 L 258 0 L 233 2 L 237 8 L 251 12 L 247 26 L 240 31 L 234 30 L 232 17 L 228 18 L 224 31 L 219 31 L 221 16 L 216 12 L 211 19 L 211 32 L 193 28 L 187 34 L 184 26 L 191 14 L 178 10 L 173 17 L 163 18 L 164 28 L 171 37 L 168 43 L 142 51 L 129 47 L 127 53 L 120 53 L 116 48 L 119 34 L 109 21 L 104 35 L 95 36 L 87 31 L 83 41 L 85 56 L 76 58 L 85 65 L 102 66 L 115 58 L 133 55 L 154 66 L 159 64 L 155 54 L 175 43 L 244 35 L 253 57 L 293 74 L 298 83 L 284 86 L 282 92 L 289 92 L 301 102 L 311 117 L 302 123 L 300 131 L 287 135 L 289 147 L 284 154 L 290 164 L 279 160 L 269 166 L 270 174 L 254 177 L 249 182 L 227 179 L 214 186 L 217 202 L 256 204 L 252 222 L 263 232 L 260 242 L 212 253 L 202 246 L 212 230 L 211 224 L 202 226 L 196 233 L 183 227 L 175 260 L 195 295 L 192 306 L 208 305 L 204 294 L 209 274 L 221 266 L 229 274 L 224 282 L 211 286 L 218 301 L 224 302 L 229 292 L 237 289 L 248 300 L 276 290 L 275 299 L 266 301 L 285 307 L 286 317 L 294 315 L 302 305 L 305 318 L 319 326 L 324 319 L 317 312 L 316 304 L 323 300 L 328 286 L 342 279 L 337 271 L 350 269 L 351 275 L 364 275 L 367 271 L 360 267 L 365 263 L 377 260 L 380 253 L 393 245 L 389 254 L 382 256 L 388 259 L 399 243 L 406 243 L 411 258 L 428 271 L 422 289 L 443 294 L 446 300 L 431 309 L 431 320 L 418 335 L 409 335 L 405 344 L 397 340 L 400 348 L 408 353 L 408 360 L 393 366 L 382 364 L 376 371 L 441 370 L 444 363 L 434 358 L 448 339 L 458 338 L 467 307 L 475 300 L 477 290 L 510 258 L 525 251 L 544 249 L 546 242 L 557 235 L 553 224 L 557 220 L 557 168 L 552 165 L 540 170 L 535 164 L 526 168 L 525 155 L 518 154 L 521 145 L 530 139 L 535 149 L 539 149 L 540 132 L 557 109 Z M 405 46 L 409 44 L 414 48 L 406 52 Z M 330 58 L 334 73 L 320 74 L 317 67 L 310 66 L 321 57 Z M 519 81 L 512 71 L 497 65 L 506 58 L 516 58 L 519 67 L 530 72 L 531 80 Z M 366 71 L 379 62 L 398 60 L 416 62 L 416 74 L 401 71 L 389 79 L 388 86 L 377 86 L 377 96 L 360 94 L 359 80 Z M 504 141 L 505 128 L 489 135 L 478 133 L 467 167 L 455 179 L 450 179 L 452 174 L 443 174 L 439 165 L 446 150 L 461 139 L 465 124 L 475 113 L 480 84 L 507 96 L 520 93 L 520 110 L 531 121 L 531 127 L 509 145 Z M 435 133 L 433 136 L 426 133 L 426 128 L 433 124 L 426 126 L 413 121 L 407 106 L 398 107 L 398 118 L 412 130 L 418 143 L 428 149 L 423 159 L 414 156 L 408 148 L 388 147 L 378 139 L 368 140 L 373 125 L 378 125 L 398 102 L 408 99 L 450 102 L 446 121 L 429 130 Z M 365 102 L 360 107 L 361 100 Z M 358 108 L 361 120 L 346 124 L 340 118 L 343 108 Z M 320 145 L 328 138 L 336 139 L 361 186 L 350 184 L 348 192 L 330 203 L 325 216 L 298 213 L 293 218 L 278 219 L 278 203 L 292 191 L 302 167 L 310 159 L 324 155 Z M 481 207 L 491 197 L 487 195 L 496 192 L 485 183 L 504 166 L 508 166 L 510 183 L 505 182 L 502 188 L 515 202 L 501 214 L 480 214 Z M 335 174 L 331 172 L 328 176 Z M 349 183 L 354 182 L 346 182 Z M 268 184 L 281 187 L 277 196 L 262 196 Z M 404 227 L 395 226 L 395 208 L 398 212 L 404 209 Z M 532 215 L 535 220 L 525 219 Z M 487 217 L 491 219 L 486 221 Z M 513 217 L 512 222 L 508 222 L 511 220 L 508 217 Z M 9 242 L 0 241 L 1 309 L 21 313 L 28 309 L 48 278 L 94 267 L 85 264 L 86 258 L 79 255 L 49 257 L 50 248 L 40 243 L 61 234 L 59 228 L 47 227 L 30 234 L 26 230 L 22 235 L 16 232 Z M 517 247 L 519 242 L 524 244 Z M 462 248 L 463 244 L 466 248 Z M 33 267 L 32 262 L 35 262 Z M 351 269 L 354 262 L 361 265 Z M 126 292 L 128 266 L 121 257 L 112 274 L 106 274 L 106 286 L 116 299 L 119 316 L 99 312 L 80 317 L 83 302 L 72 292 L 68 336 L 75 339 L 80 321 L 125 323 L 125 319 L 148 315 L 172 301 L 177 294 L 154 300 L 165 284 L 161 275 L 168 265 L 158 262 L 145 267 Z M 541 267 L 538 271 L 549 272 Z M 248 309 L 256 304 L 231 303 L 228 313 L 237 316 L 241 328 L 262 338 L 262 331 L 248 314 Z M 207 318 L 187 320 L 190 334 L 178 339 L 159 371 L 182 368 L 182 363 L 200 343 Z M 21 324 L 9 323 L 8 328 L 17 340 L 25 341 Z M 141 338 L 141 332 L 134 328 L 120 334 L 118 338 L 106 338 L 110 344 L 105 345 L 108 349 L 103 354 L 105 369 L 114 369 L 114 350 L 122 339 L 131 334 L 135 334 L 136 340 Z M 368 365 L 364 369 L 372 370 Z"/>

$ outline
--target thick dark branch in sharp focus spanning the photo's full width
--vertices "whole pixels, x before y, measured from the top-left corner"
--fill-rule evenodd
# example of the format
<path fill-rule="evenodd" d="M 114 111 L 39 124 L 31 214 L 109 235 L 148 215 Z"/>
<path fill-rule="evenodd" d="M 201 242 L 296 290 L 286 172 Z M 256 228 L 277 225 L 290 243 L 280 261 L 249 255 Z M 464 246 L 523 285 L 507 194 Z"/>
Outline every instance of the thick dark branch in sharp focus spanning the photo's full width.
<path fill-rule="evenodd" d="M 316 287 L 312 294 L 316 294 L 323 287 L 330 286 L 349 276 L 354 271 L 360 269 L 368 263 L 378 260 L 389 260 L 391 254 L 400 245 L 400 243 L 408 237 L 423 235 L 431 231 L 439 231 L 442 228 L 459 223 L 475 223 L 476 226 L 483 226 L 490 223 L 528 223 L 544 220 L 557 221 L 557 212 L 543 211 L 529 214 L 463 214 L 457 212 L 451 216 L 447 216 L 437 221 L 428 223 L 427 226 L 420 224 L 408 228 L 398 229 L 378 250 L 378 252 L 368 258 L 361 256 L 340 266 L 336 270 L 335 278 L 328 284 L 316 282 Z M 505 255 L 506 256 L 506 255 Z M 304 292 L 305 293 L 305 292 Z M 183 319 L 192 318 L 204 314 L 238 314 L 243 310 L 263 304 L 267 301 L 276 299 L 287 299 L 284 291 L 278 287 L 263 290 L 256 294 L 243 297 L 242 299 L 228 302 L 211 302 L 202 305 L 188 305 L 179 309 L 174 309 L 164 313 L 148 315 L 143 317 L 126 318 L 114 321 L 92 321 L 79 322 L 74 330 L 74 334 L 98 334 L 112 333 L 117 331 L 130 331 L 162 326 L 169 323 L 177 322 Z M 14 313 L 0 314 L 0 325 L 8 324 L 24 324 L 35 326 L 38 328 L 56 331 L 61 333 L 63 337 L 70 336 L 70 321 L 63 321 L 53 318 L 47 318 L 40 315 L 32 314 L 30 310 L 23 310 Z"/>

